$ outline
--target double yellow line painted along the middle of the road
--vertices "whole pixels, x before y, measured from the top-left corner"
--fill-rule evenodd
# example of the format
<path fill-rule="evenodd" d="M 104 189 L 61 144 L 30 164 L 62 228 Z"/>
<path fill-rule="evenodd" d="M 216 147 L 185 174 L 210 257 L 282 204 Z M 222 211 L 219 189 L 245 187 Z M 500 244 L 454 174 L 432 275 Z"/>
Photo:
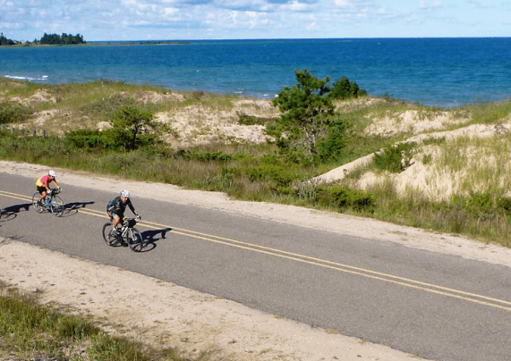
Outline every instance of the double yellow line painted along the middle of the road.
<path fill-rule="evenodd" d="M 0 190 L 0 196 L 5 197 L 13 197 L 18 198 L 22 200 L 29 200 L 31 201 L 31 197 L 18 195 L 15 193 L 10 193 L 6 191 Z M 89 214 L 94 215 L 98 217 L 104 217 L 106 218 L 106 212 L 103 211 L 97 211 L 93 209 L 86 209 L 81 208 L 77 209 L 78 212 L 82 214 Z M 503 299 L 498 298 L 490 298 L 487 296 L 479 295 L 476 293 L 471 292 L 465 292 L 463 290 L 455 290 L 448 287 L 443 287 L 439 285 L 435 285 L 428 282 L 422 282 L 422 281 L 415 281 L 409 278 L 405 277 L 399 277 L 395 276 L 393 274 L 388 273 L 380 273 L 377 271 L 371 271 L 365 268 L 356 267 L 349 264 L 340 264 L 332 261 L 328 261 L 325 259 L 312 257 L 312 256 L 305 256 L 293 252 L 287 252 L 281 249 L 277 248 L 268 248 L 265 246 L 260 246 L 252 243 L 243 242 L 241 240 L 237 239 L 228 239 L 224 237 L 215 236 L 208 233 L 202 233 L 199 231 L 192 231 L 192 230 L 186 230 L 182 228 L 172 227 L 165 224 L 160 224 L 156 222 L 149 222 L 149 221 L 141 221 L 138 223 L 142 227 L 147 227 L 151 229 L 164 229 L 164 230 L 171 230 L 175 234 L 183 235 L 185 237 L 192 237 L 194 239 L 203 239 L 207 240 L 209 242 L 214 242 L 221 245 L 226 245 L 234 248 L 242 248 L 245 250 L 249 250 L 252 252 L 258 252 L 260 254 L 268 255 L 268 256 L 277 256 L 279 258 L 289 259 L 294 262 L 300 262 L 302 264 L 311 264 L 323 268 L 328 268 L 330 270 L 334 270 L 337 272 L 342 273 L 350 273 L 357 276 L 362 276 L 365 278 L 369 278 L 372 280 L 377 281 L 384 281 L 388 283 L 393 283 L 396 285 L 400 285 L 403 287 L 408 287 L 415 290 L 422 290 L 430 293 L 435 293 L 441 296 L 446 296 L 450 298 L 458 298 L 462 299 L 464 301 L 473 302 L 476 304 L 484 305 L 484 306 L 491 306 L 500 308 L 506 311 L 511 311 L 511 302 Z"/>

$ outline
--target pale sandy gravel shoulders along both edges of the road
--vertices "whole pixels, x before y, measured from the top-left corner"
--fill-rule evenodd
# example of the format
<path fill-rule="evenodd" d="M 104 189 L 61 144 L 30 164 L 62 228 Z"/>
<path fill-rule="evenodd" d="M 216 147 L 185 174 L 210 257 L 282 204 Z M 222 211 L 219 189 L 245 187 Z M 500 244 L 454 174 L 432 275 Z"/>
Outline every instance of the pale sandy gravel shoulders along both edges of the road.
<path fill-rule="evenodd" d="M 36 179 L 47 167 L 0 161 L 0 172 Z M 511 249 L 370 219 L 268 203 L 234 201 L 214 192 L 123 181 L 58 170 L 59 183 L 90 189 L 129 189 L 135 197 L 247 214 L 276 222 L 332 231 L 405 247 L 447 253 L 511 267 Z M 0 222 L 1 226 L 1 222 Z M 104 320 L 109 332 L 154 346 L 178 348 L 184 357 L 209 353 L 211 360 L 386 360 L 418 357 L 268 315 L 223 298 L 188 290 L 117 267 L 72 258 L 13 239 L 0 227 L 0 279 L 21 290 L 43 290 L 47 303 L 71 306 Z M 128 303 L 127 300 L 130 300 Z M 137 310 L 137 312 L 133 312 Z M 141 312 L 142 311 L 142 312 Z"/>

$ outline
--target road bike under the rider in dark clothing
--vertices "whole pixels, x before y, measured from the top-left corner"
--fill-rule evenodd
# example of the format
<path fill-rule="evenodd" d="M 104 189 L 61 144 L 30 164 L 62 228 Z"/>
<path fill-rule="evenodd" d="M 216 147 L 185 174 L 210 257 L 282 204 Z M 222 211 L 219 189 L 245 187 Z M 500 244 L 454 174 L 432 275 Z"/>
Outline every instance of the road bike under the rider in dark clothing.
<path fill-rule="evenodd" d="M 108 246 L 127 245 L 134 252 L 141 252 L 148 247 L 149 240 L 143 239 L 141 231 L 135 228 L 135 224 L 141 220 L 141 217 L 123 218 L 123 224 L 117 224 L 114 228 L 113 218 L 110 222 L 103 224 L 103 239 Z"/>

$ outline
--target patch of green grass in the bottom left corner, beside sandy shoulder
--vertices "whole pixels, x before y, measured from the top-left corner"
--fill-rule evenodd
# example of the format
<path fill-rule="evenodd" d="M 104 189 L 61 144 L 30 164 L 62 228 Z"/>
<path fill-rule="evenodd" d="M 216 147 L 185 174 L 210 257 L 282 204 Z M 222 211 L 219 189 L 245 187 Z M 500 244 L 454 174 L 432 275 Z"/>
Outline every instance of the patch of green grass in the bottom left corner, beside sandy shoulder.
<path fill-rule="evenodd" d="M 15 355 L 16 357 L 13 357 Z M 92 320 L 41 306 L 28 294 L 0 282 L 0 357 L 105 361 L 183 361 L 173 349 L 113 337 Z"/>

